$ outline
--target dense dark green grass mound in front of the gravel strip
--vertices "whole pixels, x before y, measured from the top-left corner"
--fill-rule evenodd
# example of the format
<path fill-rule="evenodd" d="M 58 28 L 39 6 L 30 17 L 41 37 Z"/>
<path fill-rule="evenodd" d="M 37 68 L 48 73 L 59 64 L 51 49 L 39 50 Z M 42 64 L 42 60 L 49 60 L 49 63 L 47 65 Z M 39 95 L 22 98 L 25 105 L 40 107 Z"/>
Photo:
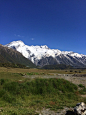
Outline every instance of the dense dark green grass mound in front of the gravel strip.
<path fill-rule="evenodd" d="M 77 86 L 64 79 L 35 79 L 31 82 L 10 82 L 5 83 L 3 89 L 13 95 L 53 95 L 61 93 L 74 93 Z"/>

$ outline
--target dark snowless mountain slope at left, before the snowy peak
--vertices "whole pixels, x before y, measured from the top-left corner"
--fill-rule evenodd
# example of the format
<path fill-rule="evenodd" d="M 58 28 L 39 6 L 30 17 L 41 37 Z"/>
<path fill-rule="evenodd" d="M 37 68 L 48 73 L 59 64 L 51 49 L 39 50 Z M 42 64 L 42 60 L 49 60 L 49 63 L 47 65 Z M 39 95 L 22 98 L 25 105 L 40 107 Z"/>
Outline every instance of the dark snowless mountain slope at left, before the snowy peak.
<path fill-rule="evenodd" d="M 22 64 L 29 67 L 36 67 L 30 60 L 20 52 L 0 44 L 0 63 Z"/>

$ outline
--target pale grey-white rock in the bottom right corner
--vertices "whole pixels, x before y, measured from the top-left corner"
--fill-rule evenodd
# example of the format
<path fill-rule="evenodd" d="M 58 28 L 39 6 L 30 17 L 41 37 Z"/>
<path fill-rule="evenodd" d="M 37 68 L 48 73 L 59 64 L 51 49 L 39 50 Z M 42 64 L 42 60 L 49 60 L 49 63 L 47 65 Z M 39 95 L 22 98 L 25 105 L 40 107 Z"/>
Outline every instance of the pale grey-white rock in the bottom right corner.
<path fill-rule="evenodd" d="M 76 115 L 86 115 L 86 105 L 84 102 L 76 104 L 76 107 L 74 107 L 74 113 Z"/>

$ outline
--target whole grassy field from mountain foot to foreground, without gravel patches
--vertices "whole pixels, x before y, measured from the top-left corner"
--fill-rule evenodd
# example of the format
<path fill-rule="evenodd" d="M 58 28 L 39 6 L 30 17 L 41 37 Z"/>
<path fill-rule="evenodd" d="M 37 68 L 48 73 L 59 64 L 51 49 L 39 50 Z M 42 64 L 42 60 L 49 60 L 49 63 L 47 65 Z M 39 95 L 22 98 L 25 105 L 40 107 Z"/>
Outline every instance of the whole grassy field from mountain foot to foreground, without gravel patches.
<path fill-rule="evenodd" d="M 57 78 L 24 78 L 26 75 L 85 74 L 86 70 L 0 68 L 0 115 L 39 115 L 43 108 L 57 111 L 74 107 L 86 98 L 86 88 Z M 80 73 L 81 71 L 81 73 Z"/>

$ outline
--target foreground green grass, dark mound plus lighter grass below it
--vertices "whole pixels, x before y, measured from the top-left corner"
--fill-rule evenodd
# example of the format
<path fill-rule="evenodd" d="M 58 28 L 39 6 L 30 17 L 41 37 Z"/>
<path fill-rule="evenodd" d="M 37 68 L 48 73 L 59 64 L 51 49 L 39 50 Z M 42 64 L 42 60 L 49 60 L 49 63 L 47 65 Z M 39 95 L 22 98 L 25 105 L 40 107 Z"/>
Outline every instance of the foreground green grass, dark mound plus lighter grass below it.
<path fill-rule="evenodd" d="M 0 114 L 38 115 L 36 110 L 44 107 L 56 111 L 82 101 L 79 94 L 78 86 L 64 79 L 36 78 L 19 82 L 3 78 L 0 79 Z"/>

